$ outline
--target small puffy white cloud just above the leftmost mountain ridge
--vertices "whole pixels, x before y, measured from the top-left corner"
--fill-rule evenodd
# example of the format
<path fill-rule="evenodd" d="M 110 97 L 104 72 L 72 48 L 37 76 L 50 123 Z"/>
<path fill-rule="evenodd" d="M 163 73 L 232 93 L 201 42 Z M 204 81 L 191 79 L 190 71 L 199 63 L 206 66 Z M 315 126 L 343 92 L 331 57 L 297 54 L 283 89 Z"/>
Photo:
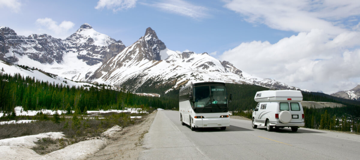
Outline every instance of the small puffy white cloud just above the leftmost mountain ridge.
<path fill-rule="evenodd" d="M 55 36 L 59 36 L 61 38 L 68 36 L 67 31 L 75 26 L 75 24 L 71 21 L 63 21 L 60 25 L 58 25 L 58 23 L 51 18 L 39 18 L 35 23 L 41 27 L 39 29 L 40 31 L 50 31 L 50 34 L 54 33 Z M 45 30 L 42 27 L 45 27 Z"/>

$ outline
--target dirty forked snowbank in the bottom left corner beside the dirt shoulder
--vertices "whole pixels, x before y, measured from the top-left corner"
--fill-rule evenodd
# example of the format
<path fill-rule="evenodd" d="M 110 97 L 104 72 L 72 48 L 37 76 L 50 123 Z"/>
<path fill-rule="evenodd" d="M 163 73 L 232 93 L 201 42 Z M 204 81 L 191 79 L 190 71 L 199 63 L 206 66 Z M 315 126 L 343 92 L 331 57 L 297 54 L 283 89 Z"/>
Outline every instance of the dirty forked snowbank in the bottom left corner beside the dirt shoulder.
<path fill-rule="evenodd" d="M 8 138 L 0 140 L 0 159 L 6 160 L 85 160 L 89 155 L 93 155 L 106 147 L 106 138 L 111 138 L 122 128 L 118 125 L 113 126 L 102 134 L 102 137 L 96 137 L 88 141 L 82 141 L 69 145 L 61 150 L 57 150 L 41 156 L 35 151 L 28 149 L 35 146 L 35 143 L 41 138 L 63 138 L 64 134 L 59 132 L 41 133 L 37 135 L 28 135 L 24 137 Z M 105 138 L 104 138 L 105 137 Z"/>

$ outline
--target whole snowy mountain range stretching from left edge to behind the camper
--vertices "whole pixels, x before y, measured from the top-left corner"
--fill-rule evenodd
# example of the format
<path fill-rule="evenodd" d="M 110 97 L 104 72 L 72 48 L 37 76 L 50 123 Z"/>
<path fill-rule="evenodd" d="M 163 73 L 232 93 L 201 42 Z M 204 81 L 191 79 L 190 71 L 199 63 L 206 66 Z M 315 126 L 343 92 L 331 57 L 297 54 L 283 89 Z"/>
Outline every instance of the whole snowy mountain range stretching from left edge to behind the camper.
<path fill-rule="evenodd" d="M 151 86 L 161 88 L 157 94 L 166 94 L 193 80 L 307 91 L 252 76 L 206 52 L 170 50 L 150 27 L 130 46 L 96 32 L 87 23 L 64 40 L 46 34 L 19 36 L 11 28 L 0 27 L 0 60 L 39 68 L 73 81 L 110 84 L 132 92 Z"/>

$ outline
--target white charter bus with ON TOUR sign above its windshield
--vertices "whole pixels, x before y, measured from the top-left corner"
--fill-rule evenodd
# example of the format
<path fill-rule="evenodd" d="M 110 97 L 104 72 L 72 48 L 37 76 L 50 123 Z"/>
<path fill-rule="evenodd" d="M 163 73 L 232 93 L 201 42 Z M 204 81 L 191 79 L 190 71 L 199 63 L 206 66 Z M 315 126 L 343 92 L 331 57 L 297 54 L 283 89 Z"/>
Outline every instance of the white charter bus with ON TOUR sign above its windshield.
<path fill-rule="evenodd" d="M 196 128 L 220 127 L 225 130 L 230 126 L 226 86 L 219 81 L 195 81 L 180 89 L 179 111 L 182 125 Z"/>

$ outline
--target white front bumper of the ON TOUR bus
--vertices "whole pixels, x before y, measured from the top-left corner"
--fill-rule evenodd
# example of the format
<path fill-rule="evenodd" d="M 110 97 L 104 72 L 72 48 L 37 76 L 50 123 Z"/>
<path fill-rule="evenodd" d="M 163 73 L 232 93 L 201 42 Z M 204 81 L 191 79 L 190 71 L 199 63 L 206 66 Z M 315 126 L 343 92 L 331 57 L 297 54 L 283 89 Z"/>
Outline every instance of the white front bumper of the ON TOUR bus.
<path fill-rule="evenodd" d="M 226 118 L 194 118 L 196 128 L 224 127 L 230 126 L 230 117 Z"/>

